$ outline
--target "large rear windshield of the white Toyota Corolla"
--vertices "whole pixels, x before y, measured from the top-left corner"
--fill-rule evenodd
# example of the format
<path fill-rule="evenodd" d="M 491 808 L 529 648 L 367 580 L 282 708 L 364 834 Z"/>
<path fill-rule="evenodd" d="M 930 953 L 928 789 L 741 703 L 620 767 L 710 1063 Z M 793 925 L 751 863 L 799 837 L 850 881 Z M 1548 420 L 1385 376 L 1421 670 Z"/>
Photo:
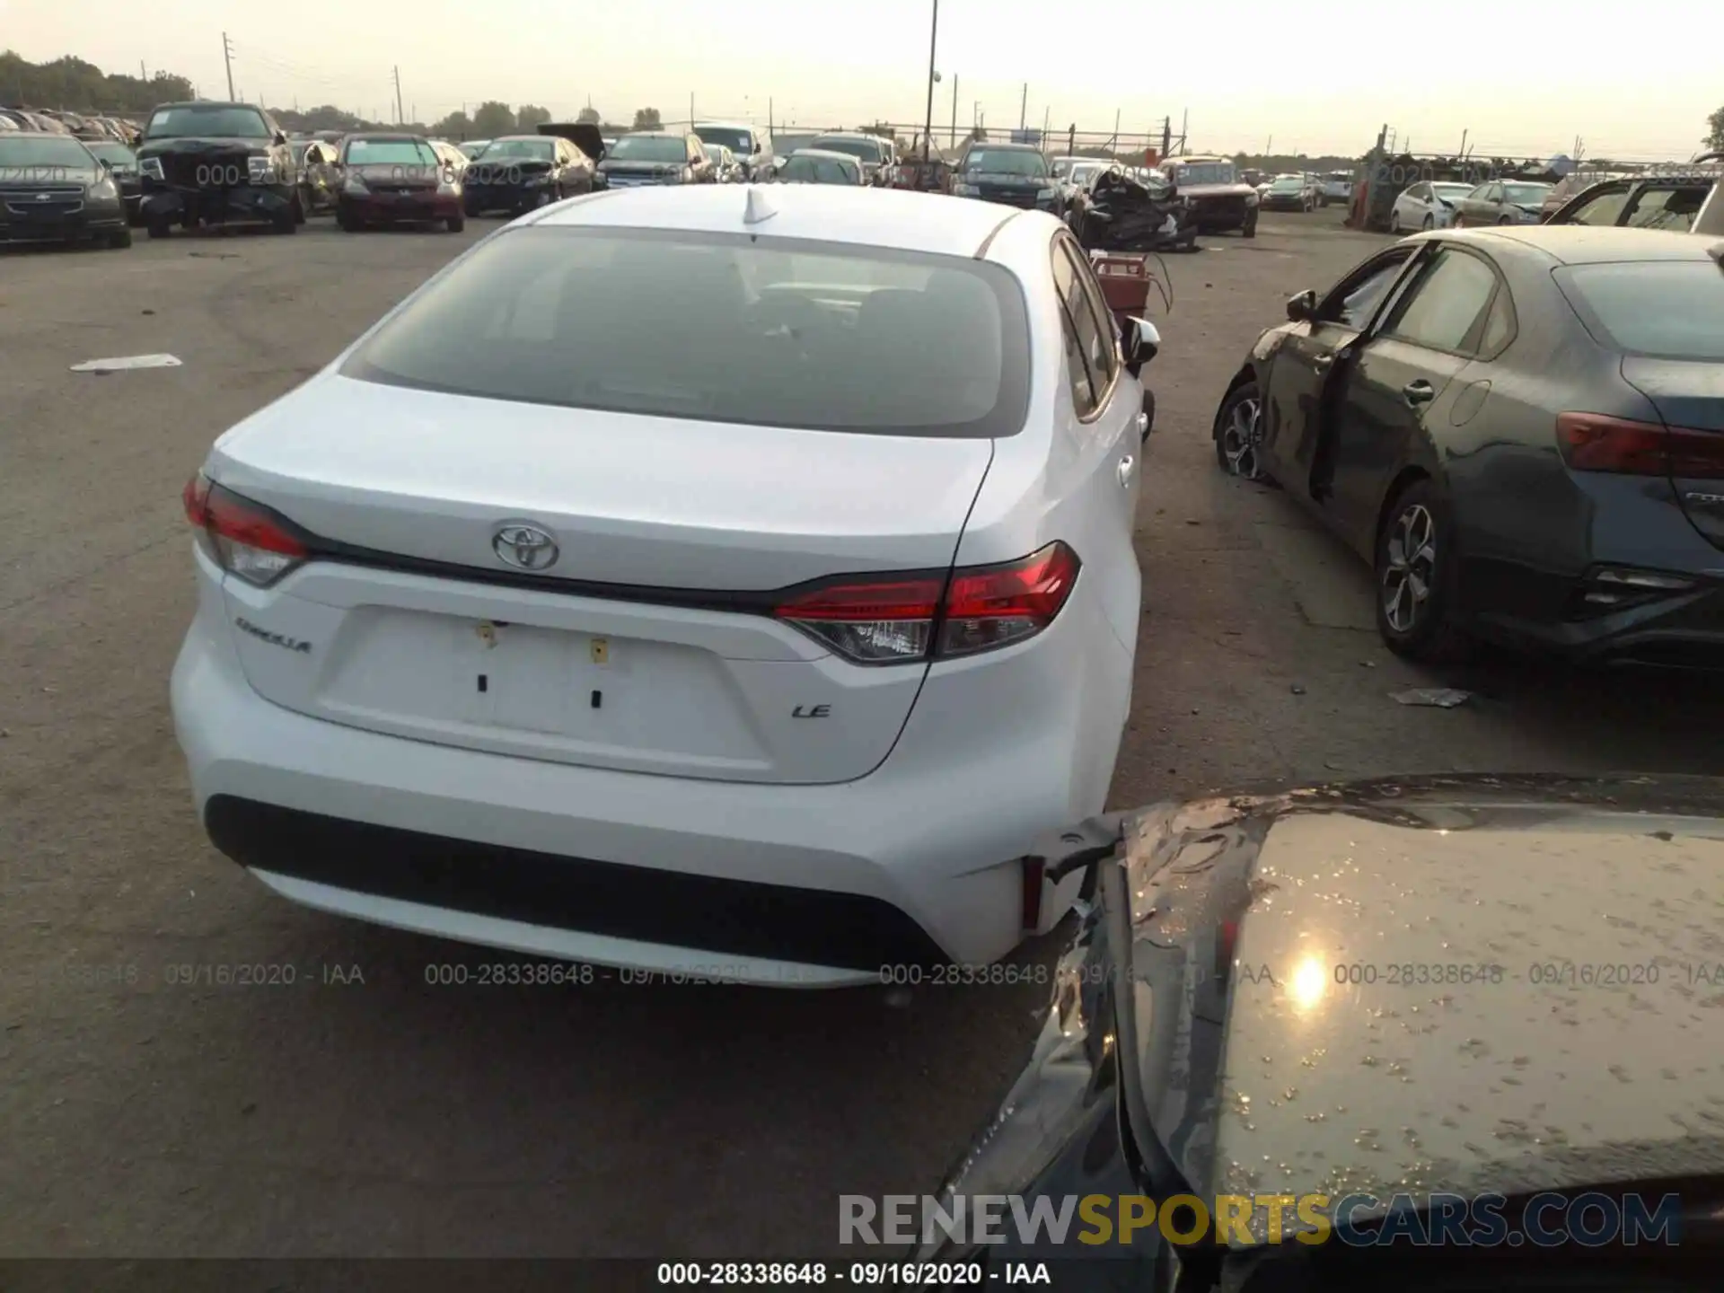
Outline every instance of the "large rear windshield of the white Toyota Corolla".
<path fill-rule="evenodd" d="M 1029 328 L 1017 279 L 969 257 L 522 228 L 457 260 L 343 372 L 569 409 L 993 438 L 1024 422 Z"/>

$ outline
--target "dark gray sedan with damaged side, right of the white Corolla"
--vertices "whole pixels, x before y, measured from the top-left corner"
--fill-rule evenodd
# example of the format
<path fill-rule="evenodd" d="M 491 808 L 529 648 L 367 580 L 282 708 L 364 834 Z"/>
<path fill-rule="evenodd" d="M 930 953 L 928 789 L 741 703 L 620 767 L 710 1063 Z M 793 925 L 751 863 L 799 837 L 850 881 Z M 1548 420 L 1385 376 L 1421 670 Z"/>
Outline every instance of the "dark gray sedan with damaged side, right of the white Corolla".
<path fill-rule="evenodd" d="M 1724 667 L 1724 243 L 1415 234 L 1293 297 L 1214 436 L 1372 562 L 1402 655 Z"/>

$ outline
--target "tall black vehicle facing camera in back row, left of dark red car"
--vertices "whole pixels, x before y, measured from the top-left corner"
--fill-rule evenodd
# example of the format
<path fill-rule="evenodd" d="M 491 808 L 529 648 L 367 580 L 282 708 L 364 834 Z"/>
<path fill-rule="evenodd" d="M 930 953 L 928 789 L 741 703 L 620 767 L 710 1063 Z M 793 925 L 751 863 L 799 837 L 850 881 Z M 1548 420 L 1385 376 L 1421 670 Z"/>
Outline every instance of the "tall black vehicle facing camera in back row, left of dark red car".
<path fill-rule="evenodd" d="M 138 171 L 152 238 L 176 224 L 293 233 L 305 221 L 288 136 L 252 103 L 162 103 L 143 128 Z"/>

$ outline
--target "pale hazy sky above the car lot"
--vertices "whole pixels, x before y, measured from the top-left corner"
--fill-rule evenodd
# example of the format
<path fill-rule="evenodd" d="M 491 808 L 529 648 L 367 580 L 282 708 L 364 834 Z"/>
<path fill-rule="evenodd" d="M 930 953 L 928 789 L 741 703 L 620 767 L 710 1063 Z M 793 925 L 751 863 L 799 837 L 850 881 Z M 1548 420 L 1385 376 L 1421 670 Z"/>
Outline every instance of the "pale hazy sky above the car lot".
<path fill-rule="evenodd" d="M 926 112 L 929 0 L 0 0 L 0 48 L 169 69 L 271 105 L 393 102 L 436 119 L 484 98 L 628 121 L 700 116 L 855 126 Z M 934 122 L 1146 131 L 1190 110 L 1191 145 L 1357 155 L 1381 124 L 1419 152 L 1688 157 L 1724 105 L 1714 57 L 1672 57 L 1671 24 L 1538 0 L 943 0 Z M 1690 10 L 1695 22 L 1702 9 Z M 1686 26 L 1688 19 L 1679 19 Z M 1693 33 L 1703 43 L 1702 33 Z M 1691 71 L 1679 71 L 1690 67 Z M 0 86 L 5 93 L 5 86 Z M 71 105 L 67 105 L 71 107 Z"/>

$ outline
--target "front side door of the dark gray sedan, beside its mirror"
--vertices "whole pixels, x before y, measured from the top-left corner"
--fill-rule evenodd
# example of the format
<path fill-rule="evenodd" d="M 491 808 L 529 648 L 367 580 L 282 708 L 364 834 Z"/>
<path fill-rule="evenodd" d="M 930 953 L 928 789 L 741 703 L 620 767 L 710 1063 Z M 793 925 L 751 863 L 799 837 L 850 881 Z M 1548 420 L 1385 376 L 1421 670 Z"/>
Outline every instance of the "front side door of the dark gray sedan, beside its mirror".
<path fill-rule="evenodd" d="M 1267 388 L 1260 391 L 1260 452 L 1267 472 L 1298 497 L 1307 495 L 1302 486 L 1319 460 L 1334 369 L 1345 367 L 1348 347 L 1383 305 L 1415 250 L 1393 247 L 1336 283 L 1319 302 L 1315 317 L 1293 324 L 1271 362 Z"/>

